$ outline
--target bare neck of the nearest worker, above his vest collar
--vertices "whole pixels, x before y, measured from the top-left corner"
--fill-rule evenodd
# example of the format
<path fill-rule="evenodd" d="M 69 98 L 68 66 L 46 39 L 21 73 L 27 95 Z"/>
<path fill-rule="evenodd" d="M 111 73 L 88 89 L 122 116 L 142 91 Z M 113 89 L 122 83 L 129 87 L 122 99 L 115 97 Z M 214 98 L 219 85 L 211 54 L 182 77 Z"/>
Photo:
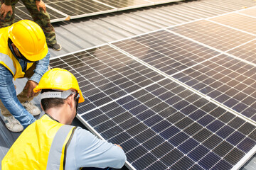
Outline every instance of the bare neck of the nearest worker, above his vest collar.
<path fill-rule="evenodd" d="M 64 104 L 64 106 L 61 107 L 55 107 L 55 108 L 49 108 L 46 113 L 50 115 L 55 120 L 58 120 L 59 123 L 65 124 L 65 125 L 71 125 L 73 118 L 70 118 L 70 115 L 72 111 L 68 106 Z"/>

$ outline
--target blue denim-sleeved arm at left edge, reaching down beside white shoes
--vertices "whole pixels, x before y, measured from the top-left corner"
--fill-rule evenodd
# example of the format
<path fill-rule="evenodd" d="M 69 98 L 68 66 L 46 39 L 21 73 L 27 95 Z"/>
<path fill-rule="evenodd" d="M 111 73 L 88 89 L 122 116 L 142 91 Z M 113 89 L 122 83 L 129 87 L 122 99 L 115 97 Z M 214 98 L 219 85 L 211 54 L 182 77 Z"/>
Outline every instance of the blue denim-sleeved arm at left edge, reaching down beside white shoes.
<path fill-rule="evenodd" d="M 0 64 L 0 100 L 9 112 L 26 128 L 36 119 L 18 101 L 13 83 L 13 75 Z"/>

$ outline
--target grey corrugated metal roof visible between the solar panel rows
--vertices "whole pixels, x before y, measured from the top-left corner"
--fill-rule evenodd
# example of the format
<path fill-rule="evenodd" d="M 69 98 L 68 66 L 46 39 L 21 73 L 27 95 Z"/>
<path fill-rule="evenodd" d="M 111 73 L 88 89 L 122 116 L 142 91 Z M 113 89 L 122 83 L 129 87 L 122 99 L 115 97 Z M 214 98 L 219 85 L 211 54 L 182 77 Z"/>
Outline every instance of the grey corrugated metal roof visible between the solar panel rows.
<path fill-rule="evenodd" d="M 256 6 L 254 0 L 201 0 L 179 1 L 159 6 L 137 8 L 128 11 L 107 13 L 99 16 L 53 23 L 58 42 L 63 50 L 50 50 L 51 57 L 69 52 L 102 45 L 106 42 L 128 38 L 152 30 L 175 26 L 199 18 L 208 18 L 242 8 Z M 18 81 L 18 90 L 24 86 L 24 80 Z M 39 105 L 38 99 L 36 99 Z M 75 125 L 81 125 L 78 121 Z M 14 143 L 20 133 L 9 132 L 0 119 L 0 160 Z M 255 157 L 242 169 L 256 169 Z M 0 163 L 1 164 L 1 163 Z"/>

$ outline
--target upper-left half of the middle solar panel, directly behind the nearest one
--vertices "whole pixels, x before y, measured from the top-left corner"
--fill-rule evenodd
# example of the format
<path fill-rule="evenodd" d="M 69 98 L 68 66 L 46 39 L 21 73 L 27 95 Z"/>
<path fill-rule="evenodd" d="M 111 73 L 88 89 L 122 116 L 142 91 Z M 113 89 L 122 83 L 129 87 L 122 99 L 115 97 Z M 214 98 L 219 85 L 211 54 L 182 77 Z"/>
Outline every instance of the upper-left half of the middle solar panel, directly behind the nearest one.
<path fill-rule="evenodd" d="M 112 44 L 168 75 L 220 54 L 166 30 Z"/>

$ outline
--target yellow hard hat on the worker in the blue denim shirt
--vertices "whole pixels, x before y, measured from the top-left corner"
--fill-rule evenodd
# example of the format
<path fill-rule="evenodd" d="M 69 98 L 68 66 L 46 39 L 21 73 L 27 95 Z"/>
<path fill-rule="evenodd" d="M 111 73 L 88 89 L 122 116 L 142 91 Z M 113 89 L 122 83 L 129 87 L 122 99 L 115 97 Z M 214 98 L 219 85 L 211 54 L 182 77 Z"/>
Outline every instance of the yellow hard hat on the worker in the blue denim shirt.
<path fill-rule="evenodd" d="M 46 36 L 37 23 L 29 20 L 18 21 L 10 26 L 8 35 L 27 60 L 36 62 L 46 57 Z"/>

